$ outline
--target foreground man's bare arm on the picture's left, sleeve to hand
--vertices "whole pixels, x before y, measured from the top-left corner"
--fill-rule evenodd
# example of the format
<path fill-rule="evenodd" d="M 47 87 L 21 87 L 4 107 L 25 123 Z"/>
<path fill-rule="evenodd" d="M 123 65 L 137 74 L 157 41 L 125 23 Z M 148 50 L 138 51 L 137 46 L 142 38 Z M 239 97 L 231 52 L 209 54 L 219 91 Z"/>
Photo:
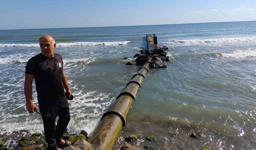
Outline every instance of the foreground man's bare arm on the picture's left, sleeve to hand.
<path fill-rule="evenodd" d="M 34 113 L 34 110 L 37 109 L 36 105 L 32 101 L 32 82 L 34 77 L 34 75 L 25 73 L 24 94 L 26 97 L 26 109 L 29 113 Z"/>

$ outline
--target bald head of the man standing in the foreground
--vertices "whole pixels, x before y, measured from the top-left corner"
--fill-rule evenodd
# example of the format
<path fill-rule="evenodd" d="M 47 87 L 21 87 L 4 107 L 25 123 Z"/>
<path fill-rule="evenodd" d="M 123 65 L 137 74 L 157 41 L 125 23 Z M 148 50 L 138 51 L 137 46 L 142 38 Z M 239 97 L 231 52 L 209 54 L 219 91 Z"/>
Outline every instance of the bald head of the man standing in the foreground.
<path fill-rule="evenodd" d="M 56 43 L 50 36 L 43 36 L 39 40 L 40 49 L 42 52 L 42 55 L 52 58 L 54 55 L 54 49 L 56 48 Z"/>

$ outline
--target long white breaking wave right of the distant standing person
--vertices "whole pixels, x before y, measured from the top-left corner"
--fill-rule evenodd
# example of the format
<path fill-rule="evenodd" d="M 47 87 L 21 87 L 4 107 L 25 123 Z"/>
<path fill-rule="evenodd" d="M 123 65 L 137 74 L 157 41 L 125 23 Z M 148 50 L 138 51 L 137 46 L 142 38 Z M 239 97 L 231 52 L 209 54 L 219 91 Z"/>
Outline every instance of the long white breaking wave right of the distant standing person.
<path fill-rule="evenodd" d="M 190 46 L 190 45 L 211 45 L 236 42 L 256 42 L 256 36 L 253 37 L 237 37 L 237 38 L 208 38 L 208 39 L 187 39 L 187 40 L 170 40 L 165 42 L 172 46 Z"/>

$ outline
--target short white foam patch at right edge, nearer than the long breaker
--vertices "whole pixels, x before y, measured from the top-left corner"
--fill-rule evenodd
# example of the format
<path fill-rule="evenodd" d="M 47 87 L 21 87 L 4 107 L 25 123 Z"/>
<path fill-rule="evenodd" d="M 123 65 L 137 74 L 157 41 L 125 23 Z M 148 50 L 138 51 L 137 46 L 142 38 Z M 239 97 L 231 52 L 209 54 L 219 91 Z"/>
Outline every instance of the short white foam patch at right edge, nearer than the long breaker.
<path fill-rule="evenodd" d="M 248 57 L 256 57 L 255 49 L 248 50 L 236 50 L 232 53 L 222 53 L 222 57 L 226 58 L 248 58 Z"/>

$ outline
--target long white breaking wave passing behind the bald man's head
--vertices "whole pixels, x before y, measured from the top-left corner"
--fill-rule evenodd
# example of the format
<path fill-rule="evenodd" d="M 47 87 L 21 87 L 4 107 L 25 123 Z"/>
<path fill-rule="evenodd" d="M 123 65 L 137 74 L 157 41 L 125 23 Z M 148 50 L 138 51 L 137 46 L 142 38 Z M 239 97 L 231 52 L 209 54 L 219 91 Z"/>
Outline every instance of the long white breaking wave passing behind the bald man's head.
<path fill-rule="evenodd" d="M 61 46 L 61 47 L 95 46 L 95 45 L 114 46 L 114 45 L 128 44 L 129 42 L 130 41 L 122 41 L 122 42 L 73 42 L 73 43 L 57 43 L 57 45 Z M 0 44 L 0 47 L 39 47 L 39 44 Z"/>

